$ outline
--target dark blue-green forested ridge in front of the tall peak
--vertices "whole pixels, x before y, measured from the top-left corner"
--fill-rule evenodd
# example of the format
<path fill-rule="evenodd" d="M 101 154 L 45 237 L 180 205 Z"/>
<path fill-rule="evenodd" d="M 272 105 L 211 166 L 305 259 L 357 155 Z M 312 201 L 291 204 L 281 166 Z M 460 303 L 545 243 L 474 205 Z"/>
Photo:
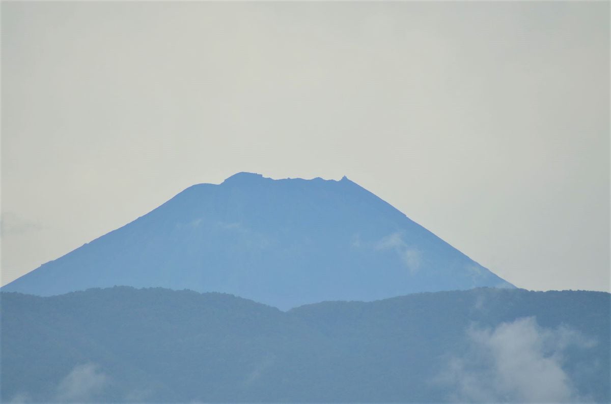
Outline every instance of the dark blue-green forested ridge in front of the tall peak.
<path fill-rule="evenodd" d="M 0 294 L 2 402 L 610 402 L 605 292 Z"/>

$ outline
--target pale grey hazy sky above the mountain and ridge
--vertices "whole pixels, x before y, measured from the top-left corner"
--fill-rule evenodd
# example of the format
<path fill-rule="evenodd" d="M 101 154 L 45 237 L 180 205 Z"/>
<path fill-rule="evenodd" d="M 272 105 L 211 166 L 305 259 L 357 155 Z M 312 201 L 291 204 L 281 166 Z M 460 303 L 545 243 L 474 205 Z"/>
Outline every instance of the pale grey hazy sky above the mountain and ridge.
<path fill-rule="evenodd" d="M 2 2 L 2 284 L 238 171 L 609 290 L 609 2 Z"/>

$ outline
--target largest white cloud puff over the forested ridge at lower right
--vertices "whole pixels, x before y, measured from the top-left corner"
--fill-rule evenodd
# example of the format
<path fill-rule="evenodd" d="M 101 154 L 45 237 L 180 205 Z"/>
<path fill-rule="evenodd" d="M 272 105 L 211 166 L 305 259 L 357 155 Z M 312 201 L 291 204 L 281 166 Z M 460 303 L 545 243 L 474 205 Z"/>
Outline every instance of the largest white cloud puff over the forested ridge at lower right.
<path fill-rule="evenodd" d="M 467 331 L 469 350 L 450 359 L 439 381 L 456 402 L 580 402 L 563 369 L 568 347 L 595 342 L 566 326 L 543 328 L 535 317 Z"/>

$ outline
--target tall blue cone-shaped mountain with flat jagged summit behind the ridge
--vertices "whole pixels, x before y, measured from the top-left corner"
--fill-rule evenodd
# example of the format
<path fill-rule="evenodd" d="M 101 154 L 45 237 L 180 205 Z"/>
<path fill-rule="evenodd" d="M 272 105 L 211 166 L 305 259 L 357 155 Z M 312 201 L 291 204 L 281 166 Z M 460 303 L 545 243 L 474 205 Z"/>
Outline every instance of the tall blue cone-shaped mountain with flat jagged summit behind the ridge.
<path fill-rule="evenodd" d="M 189 187 L 2 290 L 114 285 L 227 292 L 281 309 L 513 287 L 348 178 L 252 173 Z"/>

